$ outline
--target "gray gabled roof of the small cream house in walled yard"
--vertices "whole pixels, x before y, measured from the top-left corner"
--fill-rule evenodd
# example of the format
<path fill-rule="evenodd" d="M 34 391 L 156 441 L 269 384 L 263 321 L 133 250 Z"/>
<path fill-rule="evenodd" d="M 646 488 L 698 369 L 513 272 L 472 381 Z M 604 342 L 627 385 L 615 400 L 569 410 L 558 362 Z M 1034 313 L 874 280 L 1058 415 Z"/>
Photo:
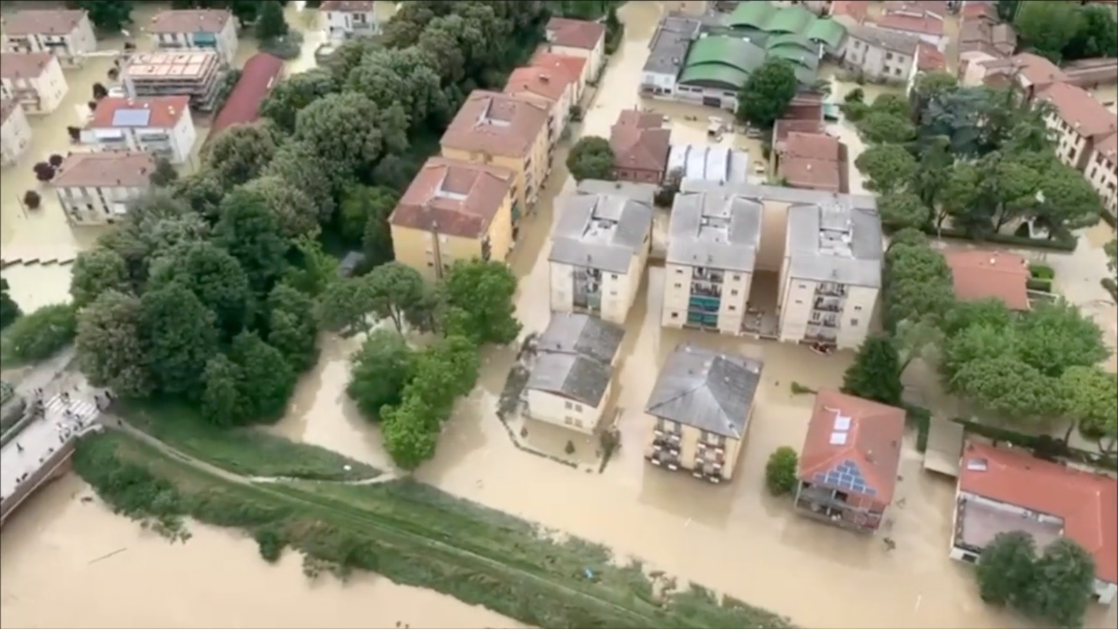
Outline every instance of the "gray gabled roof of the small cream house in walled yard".
<path fill-rule="evenodd" d="M 612 363 L 624 336 L 624 328 L 596 317 L 552 312 L 537 340 L 525 386 L 597 406 L 613 378 Z"/>

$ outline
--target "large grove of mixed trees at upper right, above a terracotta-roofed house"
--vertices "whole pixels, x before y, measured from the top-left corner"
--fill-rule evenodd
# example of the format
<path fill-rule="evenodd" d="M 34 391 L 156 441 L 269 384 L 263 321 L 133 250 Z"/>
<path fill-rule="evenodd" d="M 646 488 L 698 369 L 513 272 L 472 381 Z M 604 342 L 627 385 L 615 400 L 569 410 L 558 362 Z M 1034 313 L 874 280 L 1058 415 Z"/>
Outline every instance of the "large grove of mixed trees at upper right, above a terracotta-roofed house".
<path fill-rule="evenodd" d="M 887 229 L 953 227 L 980 238 L 1033 220 L 1051 238 L 1099 220 L 1098 194 L 1053 151 L 1046 106 L 946 74 L 921 76 L 911 103 L 862 98 L 852 92 L 843 110 L 870 144 L 854 163 L 880 195 Z"/>

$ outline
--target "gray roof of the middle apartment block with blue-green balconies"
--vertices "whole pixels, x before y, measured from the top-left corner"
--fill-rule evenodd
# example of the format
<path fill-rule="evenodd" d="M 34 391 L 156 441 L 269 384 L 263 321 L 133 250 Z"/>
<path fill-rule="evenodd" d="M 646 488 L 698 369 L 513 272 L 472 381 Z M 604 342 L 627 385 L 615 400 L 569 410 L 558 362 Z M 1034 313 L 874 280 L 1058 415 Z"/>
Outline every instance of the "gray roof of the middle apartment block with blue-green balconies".
<path fill-rule="evenodd" d="M 675 195 L 667 226 L 667 263 L 752 272 L 761 214 L 757 200 L 733 193 Z"/>

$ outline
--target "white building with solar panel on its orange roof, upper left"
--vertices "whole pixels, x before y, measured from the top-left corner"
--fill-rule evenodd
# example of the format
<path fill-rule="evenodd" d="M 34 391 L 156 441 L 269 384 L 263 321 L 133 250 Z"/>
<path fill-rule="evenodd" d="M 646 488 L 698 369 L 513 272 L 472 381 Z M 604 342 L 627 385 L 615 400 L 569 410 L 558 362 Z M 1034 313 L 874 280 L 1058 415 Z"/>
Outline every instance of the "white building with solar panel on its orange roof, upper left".
<path fill-rule="evenodd" d="M 182 163 L 190 159 L 198 132 L 187 96 L 106 97 L 97 102 L 80 138 L 101 151 L 145 152 Z"/>

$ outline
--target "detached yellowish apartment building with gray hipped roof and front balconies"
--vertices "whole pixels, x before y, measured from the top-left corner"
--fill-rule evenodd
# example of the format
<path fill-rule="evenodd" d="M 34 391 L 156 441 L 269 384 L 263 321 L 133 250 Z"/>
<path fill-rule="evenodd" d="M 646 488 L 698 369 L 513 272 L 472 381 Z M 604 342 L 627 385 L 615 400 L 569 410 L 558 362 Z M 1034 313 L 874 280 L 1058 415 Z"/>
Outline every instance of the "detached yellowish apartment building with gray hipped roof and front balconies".
<path fill-rule="evenodd" d="M 732 479 L 761 370 L 758 360 L 679 345 L 645 405 L 645 459 L 714 484 Z"/>

